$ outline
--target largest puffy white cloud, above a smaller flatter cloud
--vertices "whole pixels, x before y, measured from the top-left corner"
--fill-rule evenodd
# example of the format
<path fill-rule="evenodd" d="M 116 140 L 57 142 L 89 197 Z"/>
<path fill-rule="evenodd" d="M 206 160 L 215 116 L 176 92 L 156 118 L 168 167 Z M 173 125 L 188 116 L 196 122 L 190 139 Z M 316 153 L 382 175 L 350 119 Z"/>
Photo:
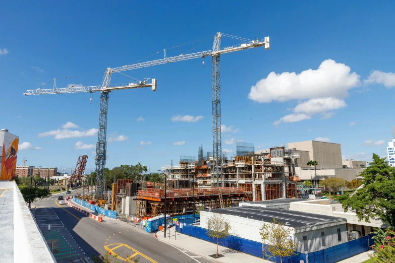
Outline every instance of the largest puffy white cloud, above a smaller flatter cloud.
<path fill-rule="evenodd" d="M 266 79 L 261 79 L 251 87 L 248 98 L 260 103 L 323 97 L 344 98 L 349 89 L 360 84 L 359 78 L 355 72 L 351 73 L 347 65 L 326 59 L 317 70 L 309 69 L 300 74 L 271 72 Z"/>

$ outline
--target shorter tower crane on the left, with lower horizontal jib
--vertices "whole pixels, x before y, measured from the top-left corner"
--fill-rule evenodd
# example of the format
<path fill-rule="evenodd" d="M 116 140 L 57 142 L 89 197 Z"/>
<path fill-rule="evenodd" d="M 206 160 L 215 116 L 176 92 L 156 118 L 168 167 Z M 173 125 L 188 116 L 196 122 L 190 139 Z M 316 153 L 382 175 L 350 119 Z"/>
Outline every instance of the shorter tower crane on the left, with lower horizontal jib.
<path fill-rule="evenodd" d="M 151 83 L 147 83 L 148 79 L 138 81 L 138 83 L 129 83 L 123 85 L 110 85 L 112 72 L 108 68 L 104 74 L 101 86 L 87 87 L 68 87 L 57 88 L 56 79 L 53 79 L 52 89 L 36 89 L 27 90 L 24 95 L 47 95 L 47 94 L 65 94 L 65 93 L 81 93 L 81 92 L 100 92 L 100 114 L 99 114 L 99 132 L 96 143 L 96 196 L 104 195 L 104 166 L 106 158 L 106 134 L 107 134 L 107 112 L 108 112 L 108 94 L 115 90 L 137 89 L 151 87 L 152 91 L 156 91 L 156 79 L 152 79 Z"/>

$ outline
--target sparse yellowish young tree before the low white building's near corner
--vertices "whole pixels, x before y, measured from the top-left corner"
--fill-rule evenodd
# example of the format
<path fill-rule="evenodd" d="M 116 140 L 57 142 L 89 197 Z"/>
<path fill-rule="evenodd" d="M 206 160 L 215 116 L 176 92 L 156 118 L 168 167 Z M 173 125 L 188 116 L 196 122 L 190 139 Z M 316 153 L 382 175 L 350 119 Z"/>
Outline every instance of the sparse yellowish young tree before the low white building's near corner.
<path fill-rule="evenodd" d="M 283 263 L 283 257 L 295 254 L 295 244 L 290 240 L 291 228 L 284 227 L 284 224 L 273 218 L 273 223 L 263 224 L 259 229 L 262 242 L 266 244 L 265 250 L 272 256 L 279 256 Z"/>

